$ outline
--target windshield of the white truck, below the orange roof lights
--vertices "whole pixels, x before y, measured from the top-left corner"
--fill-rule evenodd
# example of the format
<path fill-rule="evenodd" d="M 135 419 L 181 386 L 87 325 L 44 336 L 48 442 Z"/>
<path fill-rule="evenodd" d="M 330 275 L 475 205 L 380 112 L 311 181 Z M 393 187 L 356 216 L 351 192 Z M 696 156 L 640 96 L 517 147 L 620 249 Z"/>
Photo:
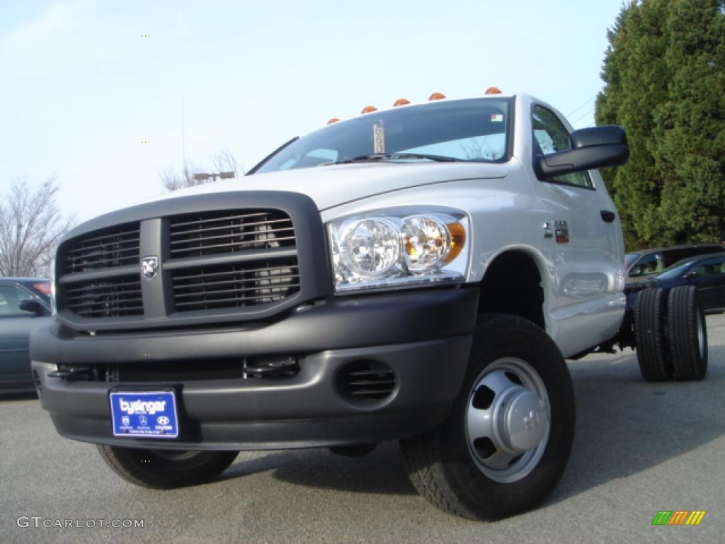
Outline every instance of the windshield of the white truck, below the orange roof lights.
<path fill-rule="evenodd" d="M 309 168 L 350 160 L 508 160 L 511 99 L 428 102 L 340 121 L 292 141 L 253 173 Z M 368 157 L 376 155 L 376 157 Z M 390 156 L 392 155 L 392 156 Z"/>

